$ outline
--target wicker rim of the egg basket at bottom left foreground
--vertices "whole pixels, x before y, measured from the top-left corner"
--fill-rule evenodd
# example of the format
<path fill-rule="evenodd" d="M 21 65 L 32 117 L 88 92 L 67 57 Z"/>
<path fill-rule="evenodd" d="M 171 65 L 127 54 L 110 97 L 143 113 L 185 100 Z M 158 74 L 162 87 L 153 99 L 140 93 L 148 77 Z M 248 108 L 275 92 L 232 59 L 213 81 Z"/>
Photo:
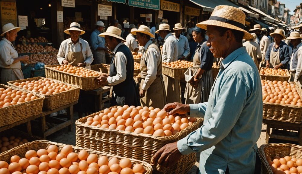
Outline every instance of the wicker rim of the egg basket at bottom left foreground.
<path fill-rule="evenodd" d="M 33 141 L 33 142 L 29 142 L 29 143 L 25 143 L 21 146 L 17 146 L 13 149 L 10 149 L 6 152 L 3 152 L 0 154 L 0 161 L 6 161 L 6 162 L 10 162 L 10 158 L 11 156 L 14 156 L 14 155 L 18 155 L 20 156 L 20 158 L 25 158 L 25 153 L 28 151 L 28 150 L 39 150 L 39 149 L 47 149 L 50 145 L 56 145 L 59 149 L 59 151 L 61 151 L 61 149 L 63 148 L 63 146 L 65 146 L 65 144 L 61 144 L 61 143 L 54 143 L 54 142 L 51 142 L 51 141 Z M 85 148 L 81 148 L 81 147 L 76 147 L 76 146 L 72 146 L 74 152 L 76 154 L 79 154 L 79 152 L 81 150 L 86 150 L 88 152 L 88 154 L 96 154 L 99 157 L 101 156 L 106 156 L 109 160 L 113 157 L 116 157 L 119 161 L 121 159 L 123 159 L 122 157 L 120 156 L 116 156 L 116 155 L 111 155 L 110 153 L 105 153 L 105 152 L 98 152 L 98 151 L 95 151 L 95 150 L 92 150 L 92 149 L 85 149 Z M 142 164 L 144 166 L 144 169 L 145 169 L 145 173 L 144 174 L 151 174 L 152 173 L 152 167 L 150 164 L 146 163 L 146 162 L 143 162 L 143 161 L 139 161 L 139 160 L 136 160 L 136 159 L 130 159 L 131 163 L 133 165 L 135 164 Z"/>

